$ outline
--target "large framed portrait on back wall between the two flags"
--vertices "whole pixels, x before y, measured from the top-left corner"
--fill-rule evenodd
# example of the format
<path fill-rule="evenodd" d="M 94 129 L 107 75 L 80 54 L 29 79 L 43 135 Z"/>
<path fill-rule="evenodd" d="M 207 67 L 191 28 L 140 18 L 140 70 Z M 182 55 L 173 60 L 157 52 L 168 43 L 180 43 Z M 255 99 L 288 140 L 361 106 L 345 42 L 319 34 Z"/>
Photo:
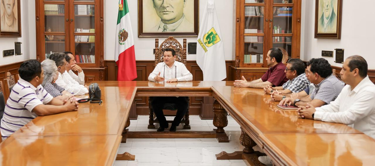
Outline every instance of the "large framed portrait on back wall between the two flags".
<path fill-rule="evenodd" d="M 138 37 L 198 36 L 199 0 L 138 0 Z"/>

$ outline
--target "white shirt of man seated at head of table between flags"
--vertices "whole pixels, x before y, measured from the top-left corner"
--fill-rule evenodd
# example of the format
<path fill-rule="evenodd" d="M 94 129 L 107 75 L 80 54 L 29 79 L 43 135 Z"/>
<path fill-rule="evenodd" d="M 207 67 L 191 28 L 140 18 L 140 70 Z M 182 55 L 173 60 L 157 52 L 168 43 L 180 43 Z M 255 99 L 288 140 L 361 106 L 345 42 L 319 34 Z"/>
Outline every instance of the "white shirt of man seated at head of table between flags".
<path fill-rule="evenodd" d="M 192 81 L 193 75 L 190 73 L 189 70 L 187 70 L 186 66 L 181 63 L 174 61 L 174 64 L 171 68 L 168 67 L 168 65 L 165 64 L 165 62 L 160 62 L 156 65 L 154 71 L 150 73 L 150 76 L 148 76 L 149 81 L 155 81 L 155 77 L 160 72 L 160 77 L 164 77 L 165 81 L 169 79 L 176 78 L 177 81 Z"/>

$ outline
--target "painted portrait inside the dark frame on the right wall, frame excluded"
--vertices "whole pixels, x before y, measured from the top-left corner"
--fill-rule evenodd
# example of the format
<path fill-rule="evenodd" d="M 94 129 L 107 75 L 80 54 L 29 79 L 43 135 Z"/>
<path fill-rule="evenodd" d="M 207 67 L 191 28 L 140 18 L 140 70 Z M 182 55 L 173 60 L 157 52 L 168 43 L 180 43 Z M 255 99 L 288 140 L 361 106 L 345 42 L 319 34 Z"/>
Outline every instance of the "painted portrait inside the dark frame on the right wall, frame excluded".
<path fill-rule="evenodd" d="M 319 0 L 318 33 L 337 32 L 337 0 Z"/>

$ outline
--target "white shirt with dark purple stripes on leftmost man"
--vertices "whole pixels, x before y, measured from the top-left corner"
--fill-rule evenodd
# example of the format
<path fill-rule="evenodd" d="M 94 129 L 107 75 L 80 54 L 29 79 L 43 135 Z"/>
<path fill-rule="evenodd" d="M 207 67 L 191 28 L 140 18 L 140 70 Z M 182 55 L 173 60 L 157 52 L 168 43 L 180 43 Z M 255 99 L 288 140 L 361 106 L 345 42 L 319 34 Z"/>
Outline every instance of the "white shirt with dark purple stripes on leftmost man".
<path fill-rule="evenodd" d="M 42 85 L 34 87 L 20 78 L 13 86 L 5 104 L 4 116 L 0 123 L 1 137 L 7 138 L 16 130 L 33 120 L 37 115 L 31 112 L 37 105 L 46 104 L 52 96 Z"/>

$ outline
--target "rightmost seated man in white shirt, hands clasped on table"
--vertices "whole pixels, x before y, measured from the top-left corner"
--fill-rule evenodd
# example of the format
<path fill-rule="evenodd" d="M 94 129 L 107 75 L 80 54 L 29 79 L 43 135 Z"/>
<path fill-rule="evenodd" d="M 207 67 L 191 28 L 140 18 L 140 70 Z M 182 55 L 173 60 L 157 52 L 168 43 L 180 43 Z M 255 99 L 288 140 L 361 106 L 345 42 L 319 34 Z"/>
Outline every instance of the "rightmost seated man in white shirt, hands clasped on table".
<path fill-rule="evenodd" d="M 297 112 L 302 118 L 347 124 L 375 139 L 375 85 L 367 70 L 362 56 L 348 57 L 340 71 L 347 85 L 336 100 L 319 108 L 300 106 Z"/>

